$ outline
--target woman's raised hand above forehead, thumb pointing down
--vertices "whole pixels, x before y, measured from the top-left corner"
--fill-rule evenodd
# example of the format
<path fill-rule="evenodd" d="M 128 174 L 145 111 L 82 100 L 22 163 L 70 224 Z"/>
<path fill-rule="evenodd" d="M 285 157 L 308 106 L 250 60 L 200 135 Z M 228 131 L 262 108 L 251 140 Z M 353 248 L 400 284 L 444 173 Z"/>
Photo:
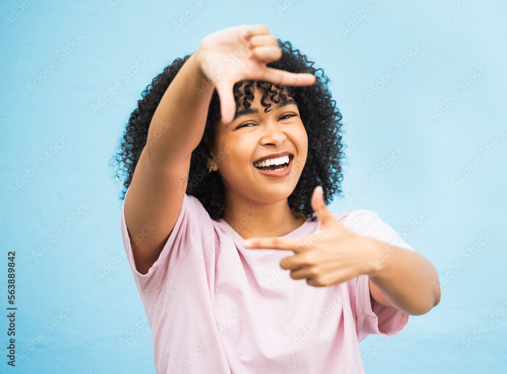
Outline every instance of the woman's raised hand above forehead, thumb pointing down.
<path fill-rule="evenodd" d="M 229 123 L 236 112 L 233 86 L 243 80 L 261 80 L 285 86 L 308 86 L 315 76 L 289 73 L 266 67 L 278 60 L 282 51 L 269 35 L 266 25 L 228 27 L 205 37 L 198 50 L 199 65 L 220 97 L 222 122 Z"/>

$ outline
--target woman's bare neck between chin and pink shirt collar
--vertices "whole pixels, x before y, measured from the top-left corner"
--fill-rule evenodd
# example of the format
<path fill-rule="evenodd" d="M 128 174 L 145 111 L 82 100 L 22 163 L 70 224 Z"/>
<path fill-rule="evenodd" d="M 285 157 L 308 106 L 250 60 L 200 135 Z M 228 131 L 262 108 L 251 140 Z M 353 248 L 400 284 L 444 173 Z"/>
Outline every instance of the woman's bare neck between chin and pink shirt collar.
<path fill-rule="evenodd" d="M 226 198 L 224 220 L 243 238 L 284 236 L 304 222 L 304 215 L 294 213 L 287 199 L 262 204 L 238 197 Z"/>

